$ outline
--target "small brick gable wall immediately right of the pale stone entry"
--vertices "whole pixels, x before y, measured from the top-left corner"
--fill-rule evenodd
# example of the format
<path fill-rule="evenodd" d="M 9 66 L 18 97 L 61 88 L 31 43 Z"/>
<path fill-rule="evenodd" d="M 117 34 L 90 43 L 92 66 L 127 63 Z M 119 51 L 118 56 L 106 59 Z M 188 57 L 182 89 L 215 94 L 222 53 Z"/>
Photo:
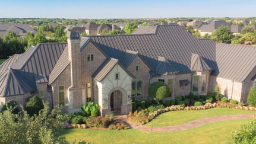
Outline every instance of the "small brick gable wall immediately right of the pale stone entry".
<path fill-rule="evenodd" d="M 138 71 L 136 71 L 136 66 L 138 66 Z M 136 98 L 138 100 L 148 99 L 148 86 L 150 79 L 148 71 L 150 71 L 150 68 L 148 68 L 146 63 L 144 63 L 139 56 L 136 56 L 127 69 L 135 76 L 134 81 L 143 81 L 143 95 Z"/>

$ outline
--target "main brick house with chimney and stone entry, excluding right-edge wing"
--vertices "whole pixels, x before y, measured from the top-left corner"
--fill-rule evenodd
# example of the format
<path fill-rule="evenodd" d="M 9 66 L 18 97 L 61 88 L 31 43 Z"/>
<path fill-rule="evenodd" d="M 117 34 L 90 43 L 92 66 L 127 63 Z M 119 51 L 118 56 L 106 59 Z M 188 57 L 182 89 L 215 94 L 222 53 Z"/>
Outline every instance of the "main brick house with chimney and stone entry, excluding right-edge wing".
<path fill-rule="evenodd" d="M 206 95 L 216 83 L 215 44 L 197 39 L 177 24 L 158 25 L 147 34 L 80 37 L 68 43 L 40 43 L 0 65 L 0 101 L 21 104 L 31 95 L 79 111 L 93 100 L 105 116 L 132 111 L 131 98 L 148 100 L 148 86 L 165 82 L 169 98 Z"/>

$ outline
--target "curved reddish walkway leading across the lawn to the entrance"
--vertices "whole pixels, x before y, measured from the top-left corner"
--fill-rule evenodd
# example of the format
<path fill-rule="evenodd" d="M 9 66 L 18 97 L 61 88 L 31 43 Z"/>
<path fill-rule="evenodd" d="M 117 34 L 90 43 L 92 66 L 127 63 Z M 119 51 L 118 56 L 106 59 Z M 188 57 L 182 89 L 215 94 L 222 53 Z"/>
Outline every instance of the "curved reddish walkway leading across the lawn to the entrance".
<path fill-rule="evenodd" d="M 124 121 L 124 123 L 127 124 L 132 129 L 142 130 L 145 132 L 164 133 L 164 132 L 176 132 L 179 130 L 187 130 L 187 129 L 191 129 L 194 127 L 202 126 L 204 124 L 213 123 L 217 121 L 250 119 L 252 115 L 253 114 L 236 114 L 236 115 L 206 117 L 204 119 L 194 120 L 188 123 L 178 124 L 176 126 L 163 126 L 163 127 L 151 127 L 151 126 L 138 125 L 129 121 L 127 119 L 127 115 L 115 116 L 115 119 Z"/>

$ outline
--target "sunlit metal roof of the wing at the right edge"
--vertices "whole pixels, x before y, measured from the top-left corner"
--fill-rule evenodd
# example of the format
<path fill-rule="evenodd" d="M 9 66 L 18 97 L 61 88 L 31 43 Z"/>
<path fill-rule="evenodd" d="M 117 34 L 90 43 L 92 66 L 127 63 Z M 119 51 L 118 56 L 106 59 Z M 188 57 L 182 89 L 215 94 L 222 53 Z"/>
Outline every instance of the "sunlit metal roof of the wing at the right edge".
<path fill-rule="evenodd" d="M 216 61 L 219 69 L 214 75 L 243 82 L 256 66 L 255 53 L 255 46 L 216 43 Z"/>

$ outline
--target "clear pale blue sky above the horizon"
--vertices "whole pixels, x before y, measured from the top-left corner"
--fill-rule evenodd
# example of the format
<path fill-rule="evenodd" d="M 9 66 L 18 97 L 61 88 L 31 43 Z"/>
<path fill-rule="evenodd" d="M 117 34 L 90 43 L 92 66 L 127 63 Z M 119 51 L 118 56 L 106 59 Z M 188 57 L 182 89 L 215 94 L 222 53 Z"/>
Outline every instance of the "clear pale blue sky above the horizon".
<path fill-rule="evenodd" d="M 0 0 L 0 18 L 256 17 L 255 0 Z"/>

